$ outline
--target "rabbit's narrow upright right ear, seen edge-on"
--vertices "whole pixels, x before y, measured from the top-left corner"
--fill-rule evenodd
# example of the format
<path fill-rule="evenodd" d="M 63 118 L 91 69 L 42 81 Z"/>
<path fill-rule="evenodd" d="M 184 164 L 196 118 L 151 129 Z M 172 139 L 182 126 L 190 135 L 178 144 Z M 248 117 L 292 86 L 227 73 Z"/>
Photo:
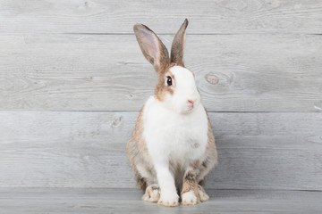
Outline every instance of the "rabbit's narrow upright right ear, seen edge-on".
<path fill-rule="evenodd" d="M 184 40 L 185 40 L 185 30 L 188 27 L 188 20 L 185 19 L 185 21 L 182 24 L 182 27 L 178 30 L 174 37 L 174 42 L 171 47 L 171 62 L 176 63 L 177 65 L 180 65 L 184 67 L 183 63 L 183 49 L 184 49 Z"/>

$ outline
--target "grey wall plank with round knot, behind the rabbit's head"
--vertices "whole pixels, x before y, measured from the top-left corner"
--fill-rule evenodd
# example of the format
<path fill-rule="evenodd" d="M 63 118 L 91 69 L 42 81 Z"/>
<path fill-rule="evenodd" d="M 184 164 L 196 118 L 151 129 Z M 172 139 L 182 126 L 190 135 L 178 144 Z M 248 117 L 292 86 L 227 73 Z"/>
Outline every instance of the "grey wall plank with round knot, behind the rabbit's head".
<path fill-rule="evenodd" d="M 132 35 L 0 36 L 0 46 L 0 110 L 139 111 L 157 83 Z M 317 35 L 190 35 L 185 51 L 208 111 L 322 111 L 319 59 Z"/>

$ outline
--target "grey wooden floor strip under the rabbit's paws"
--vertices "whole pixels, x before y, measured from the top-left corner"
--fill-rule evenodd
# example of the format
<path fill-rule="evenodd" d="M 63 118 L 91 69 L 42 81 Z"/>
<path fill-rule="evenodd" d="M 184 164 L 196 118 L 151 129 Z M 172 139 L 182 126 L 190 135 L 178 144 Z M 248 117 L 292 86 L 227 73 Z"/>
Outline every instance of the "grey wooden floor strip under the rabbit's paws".
<path fill-rule="evenodd" d="M 208 190 L 210 200 L 165 208 L 136 189 L 2 188 L 0 213 L 321 213 L 322 192 Z"/>

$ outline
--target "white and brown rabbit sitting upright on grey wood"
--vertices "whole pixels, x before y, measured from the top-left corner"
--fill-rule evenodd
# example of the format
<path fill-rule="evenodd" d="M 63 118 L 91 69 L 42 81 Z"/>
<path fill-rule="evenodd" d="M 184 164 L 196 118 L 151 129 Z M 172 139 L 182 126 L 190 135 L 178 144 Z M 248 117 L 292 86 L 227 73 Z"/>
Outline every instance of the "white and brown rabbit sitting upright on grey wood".
<path fill-rule="evenodd" d="M 127 155 L 143 200 L 165 206 L 207 201 L 205 184 L 217 163 L 215 137 L 200 103 L 194 74 L 184 67 L 183 48 L 188 20 L 174 37 L 171 56 L 147 26 L 134 25 L 145 58 L 157 71 L 155 95 L 140 111 Z M 178 191 L 178 192 L 177 192 Z"/>

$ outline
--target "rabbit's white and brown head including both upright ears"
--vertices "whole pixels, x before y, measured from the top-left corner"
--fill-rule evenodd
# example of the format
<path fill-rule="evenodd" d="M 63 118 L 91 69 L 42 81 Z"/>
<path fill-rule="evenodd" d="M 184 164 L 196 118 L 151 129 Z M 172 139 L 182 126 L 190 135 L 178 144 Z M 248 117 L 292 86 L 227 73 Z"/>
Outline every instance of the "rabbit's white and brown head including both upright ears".
<path fill-rule="evenodd" d="M 200 95 L 194 74 L 184 67 L 183 49 L 188 20 L 174 37 L 171 56 L 159 37 L 147 26 L 134 25 L 134 33 L 145 58 L 157 71 L 155 97 L 166 108 L 190 113 L 199 106 Z"/>

